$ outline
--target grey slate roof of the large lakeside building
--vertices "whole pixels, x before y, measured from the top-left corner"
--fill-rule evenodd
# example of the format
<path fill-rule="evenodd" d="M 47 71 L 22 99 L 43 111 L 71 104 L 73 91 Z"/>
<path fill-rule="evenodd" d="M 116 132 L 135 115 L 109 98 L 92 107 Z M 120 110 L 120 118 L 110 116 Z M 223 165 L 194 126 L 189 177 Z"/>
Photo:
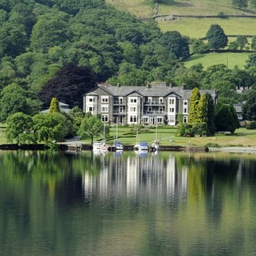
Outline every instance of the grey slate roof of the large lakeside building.
<path fill-rule="evenodd" d="M 187 90 L 183 87 L 168 87 L 163 84 L 147 86 L 113 86 L 113 85 L 98 85 L 103 91 L 113 96 L 127 96 L 134 93 L 147 97 L 166 97 L 172 93 L 180 96 L 180 98 L 189 99 L 191 96 L 191 90 Z M 216 97 L 215 91 L 212 90 L 200 90 L 201 94 L 209 92 L 213 98 Z"/>

